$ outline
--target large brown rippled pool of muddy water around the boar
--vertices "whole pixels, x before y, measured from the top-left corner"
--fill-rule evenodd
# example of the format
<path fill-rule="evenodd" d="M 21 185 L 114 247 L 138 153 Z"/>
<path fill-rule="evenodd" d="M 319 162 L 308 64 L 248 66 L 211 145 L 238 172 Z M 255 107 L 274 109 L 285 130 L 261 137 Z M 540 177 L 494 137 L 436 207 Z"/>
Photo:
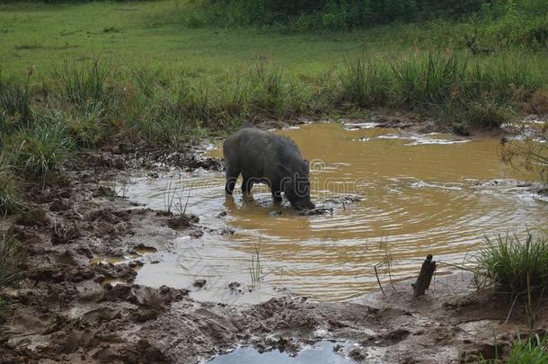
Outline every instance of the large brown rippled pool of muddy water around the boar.
<path fill-rule="evenodd" d="M 274 206 L 260 186 L 253 200 L 240 193 L 227 199 L 221 172 L 133 178 L 130 200 L 176 210 L 188 199 L 187 210 L 211 229 L 199 238 L 181 233 L 172 251 L 153 254 L 159 263 L 138 271 L 137 283 L 192 288 L 206 279 L 192 295 L 222 302 L 287 291 L 345 300 L 377 289 L 374 266 L 381 262 L 392 262 L 393 280 L 411 278 L 427 253 L 460 264 L 484 234 L 548 226 L 548 204 L 516 182 L 526 176 L 499 162 L 498 139 L 372 127 L 316 123 L 278 131 L 311 161 L 313 200 L 332 214 L 296 216 L 286 204 Z M 217 146 L 208 154 L 222 153 Z M 266 277 L 251 287 L 256 249 Z M 386 283 L 386 264 L 379 273 Z M 233 281 L 242 288 L 227 289 Z"/>

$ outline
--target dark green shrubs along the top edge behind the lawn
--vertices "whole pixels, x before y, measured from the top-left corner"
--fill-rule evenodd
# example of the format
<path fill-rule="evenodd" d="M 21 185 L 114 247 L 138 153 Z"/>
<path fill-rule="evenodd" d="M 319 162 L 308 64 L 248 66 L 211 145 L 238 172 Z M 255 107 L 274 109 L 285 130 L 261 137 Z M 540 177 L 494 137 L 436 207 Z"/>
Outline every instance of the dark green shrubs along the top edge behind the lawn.
<path fill-rule="evenodd" d="M 171 16 L 194 27 L 255 25 L 284 31 L 355 30 L 438 19 L 449 25 L 460 20 L 480 29 L 480 39 L 491 46 L 542 48 L 548 34 L 546 13 L 544 0 L 194 0 L 176 2 Z"/>

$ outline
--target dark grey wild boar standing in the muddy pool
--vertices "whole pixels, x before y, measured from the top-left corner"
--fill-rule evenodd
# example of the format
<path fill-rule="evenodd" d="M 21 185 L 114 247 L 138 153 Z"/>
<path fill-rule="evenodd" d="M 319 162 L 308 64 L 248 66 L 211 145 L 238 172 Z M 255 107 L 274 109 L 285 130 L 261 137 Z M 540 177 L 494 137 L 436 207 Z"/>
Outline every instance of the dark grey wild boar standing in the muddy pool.
<path fill-rule="evenodd" d="M 223 154 L 227 194 L 232 194 L 242 173 L 243 194 L 250 193 L 254 183 L 266 183 L 275 201 L 281 201 L 284 192 L 293 208 L 314 209 L 308 179 L 310 165 L 290 138 L 244 128 L 226 138 Z"/>

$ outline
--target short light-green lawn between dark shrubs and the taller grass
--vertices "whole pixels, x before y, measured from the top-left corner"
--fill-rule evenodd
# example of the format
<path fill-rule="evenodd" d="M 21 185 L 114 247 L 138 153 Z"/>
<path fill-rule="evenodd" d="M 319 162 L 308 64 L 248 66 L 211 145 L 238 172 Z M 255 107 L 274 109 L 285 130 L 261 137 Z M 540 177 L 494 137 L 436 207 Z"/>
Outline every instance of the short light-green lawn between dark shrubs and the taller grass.
<path fill-rule="evenodd" d="M 270 62 L 300 75 L 320 75 L 363 49 L 402 49 L 409 40 L 377 31 L 284 35 L 248 29 L 185 28 L 164 16 L 171 2 L 0 5 L 4 73 L 40 75 L 64 61 L 113 60 L 119 67 L 161 67 L 211 77 Z M 168 22 L 168 23 L 165 23 Z"/>

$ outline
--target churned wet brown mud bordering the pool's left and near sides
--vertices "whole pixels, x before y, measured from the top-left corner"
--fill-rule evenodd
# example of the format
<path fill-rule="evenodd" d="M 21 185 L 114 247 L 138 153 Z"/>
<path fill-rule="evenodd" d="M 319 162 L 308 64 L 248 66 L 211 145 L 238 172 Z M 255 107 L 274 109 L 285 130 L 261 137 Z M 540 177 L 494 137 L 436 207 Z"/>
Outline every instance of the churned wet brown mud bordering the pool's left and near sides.
<path fill-rule="evenodd" d="M 0 363 L 196 363 L 237 345 L 297 352 L 323 339 L 356 343 L 341 354 L 358 362 L 474 362 L 507 352 L 517 333 L 528 333 L 522 307 L 510 310 L 505 297 L 476 291 L 464 273 L 437 277 L 418 298 L 411 282 L 402 282 L 385 287 L 387 297 L 277 297 L 254 306 L 132 284 L 138 259 L 113 265 L 92 264 L 93 257 L 169 251 L 174 237 L 207 228 L 194 217 L 135 206 L 100 185 L 122 170 L 158 163 L 192 170 L 220 162 L 191 147 L 168 154 L 120 145 L 79 155 L 62 178 L 25 186 L 32 212 L 0 219 L 0 231 L 26 247 L 28 270 L 19 289 L 3 293 Z M 546 308 L 535 307 L 536 333 L 548 329 Z"/>

